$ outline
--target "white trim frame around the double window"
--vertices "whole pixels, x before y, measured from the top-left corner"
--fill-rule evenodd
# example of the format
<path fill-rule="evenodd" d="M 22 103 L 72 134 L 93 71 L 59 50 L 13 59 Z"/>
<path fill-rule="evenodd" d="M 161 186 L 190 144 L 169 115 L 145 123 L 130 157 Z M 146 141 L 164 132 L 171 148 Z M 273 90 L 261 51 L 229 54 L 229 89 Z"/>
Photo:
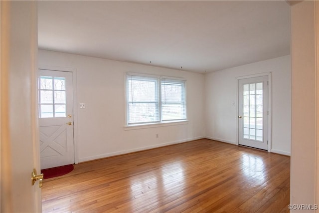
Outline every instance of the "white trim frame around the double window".
<path fill-rule="evenodd" d="M 143 122 L 143 123 L 131 123 L 129 124 L 129 104 L 128 104 L 128 98 L 129 98 L 129 90 L 128 90 L 128 76 L 136 76 L 141 78 L 153 78 L 158 80 L 158 92 L 159 92 L 159 116 L 160 120 L 156 122 Z M 188 123 L 188 116 L 187 116 L 187 92 L 186 92 L 186 80 L 183 78 L 178 77 L 169 77 L 169 76 L 159 76 L 159 75 L 149 75 L 149 74 L 143 74 L 143 73 L 132 73 L 127 72 L 124 73 L 124 82 L 125 82 L 125 130 L 131 130 L 131 129 L 141 129 L 141 128 L 153 128 L 158 126 L 171 126 L 171 125 L 182 125 Z M 170 80 L 170 81 L 180 81 L 183 83 L 183 92 L 184 92 L 184 109 L 185 109 L 185 119 L 175 119 L 175 120 L 162 120 L 162 104 L 161 104 L 161 81 L 162 80 Z"/>

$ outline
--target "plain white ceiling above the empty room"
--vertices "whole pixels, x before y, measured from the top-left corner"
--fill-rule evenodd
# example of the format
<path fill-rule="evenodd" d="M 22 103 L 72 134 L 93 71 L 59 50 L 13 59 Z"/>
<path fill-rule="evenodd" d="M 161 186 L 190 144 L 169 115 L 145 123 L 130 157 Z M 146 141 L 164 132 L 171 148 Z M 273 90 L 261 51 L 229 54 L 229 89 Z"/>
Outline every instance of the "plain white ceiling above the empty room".
<path fill-rule="evenodd" d="M 39 1 L 41 49 L 192 72 L 290 54 L 286 1 Z"/>

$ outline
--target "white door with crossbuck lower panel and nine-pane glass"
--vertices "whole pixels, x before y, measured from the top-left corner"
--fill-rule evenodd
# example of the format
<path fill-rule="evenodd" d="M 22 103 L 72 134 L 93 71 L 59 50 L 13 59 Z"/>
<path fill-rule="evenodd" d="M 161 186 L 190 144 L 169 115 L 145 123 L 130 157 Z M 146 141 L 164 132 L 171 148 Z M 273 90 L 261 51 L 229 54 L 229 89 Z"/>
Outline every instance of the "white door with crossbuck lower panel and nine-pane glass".
<path fill-rule="evenodd" d="M 38 97 L 41 169 L 73 164 L 72 72 L 40 69 Z"/>

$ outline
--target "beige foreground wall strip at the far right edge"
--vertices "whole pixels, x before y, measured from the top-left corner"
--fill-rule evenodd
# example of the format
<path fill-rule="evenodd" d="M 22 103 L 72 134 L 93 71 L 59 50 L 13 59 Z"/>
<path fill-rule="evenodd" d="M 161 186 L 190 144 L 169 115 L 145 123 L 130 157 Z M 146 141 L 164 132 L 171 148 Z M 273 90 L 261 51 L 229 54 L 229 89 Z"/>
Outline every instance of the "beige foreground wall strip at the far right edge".
<path fill-rule="evenodd" d="M 314 205 L 316 204 L 317 114 L 315 36 L 318 36 L 315 34 L 315 1 L 302 1 L 291 6 L 291 17 L 292 154 L 290 202 L 291 204 Z"/>

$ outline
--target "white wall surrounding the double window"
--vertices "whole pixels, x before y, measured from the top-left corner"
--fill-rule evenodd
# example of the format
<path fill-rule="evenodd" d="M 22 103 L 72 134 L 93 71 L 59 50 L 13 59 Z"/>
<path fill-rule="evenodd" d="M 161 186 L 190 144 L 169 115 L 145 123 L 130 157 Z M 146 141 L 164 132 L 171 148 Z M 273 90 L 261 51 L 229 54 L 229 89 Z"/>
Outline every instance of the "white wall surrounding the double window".
<path fill-rule="evenodd" d="M 76 69 L 77 122 L 74 128 L 79 162 L 205 136 L 203 74 L 47 50 L 39 50 L 38 64 L 39 68 Z M 188 123 L 126 130 L 126 72 L 186 79 Z M 86 108 L 80 109 L 79 103 L 85 103 Z"/>

